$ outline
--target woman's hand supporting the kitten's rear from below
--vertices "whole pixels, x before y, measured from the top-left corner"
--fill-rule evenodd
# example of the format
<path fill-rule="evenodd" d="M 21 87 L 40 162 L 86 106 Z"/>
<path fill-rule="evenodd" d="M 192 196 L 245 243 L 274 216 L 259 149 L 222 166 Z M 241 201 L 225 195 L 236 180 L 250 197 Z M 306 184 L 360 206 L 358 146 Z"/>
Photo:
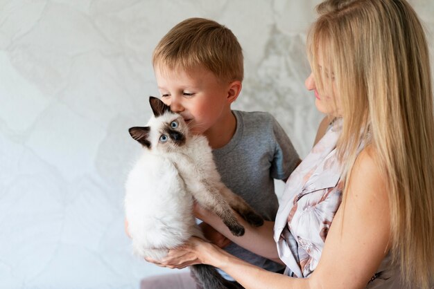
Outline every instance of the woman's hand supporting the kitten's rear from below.
<path fill-rule="evenodd" d="M 157 261 L 145 258 L 145 260 L 160 267 L 182 269 L 190 265 L 206 263 L 209 250 L 215 250 L 215 246 L 198 237 L 191 237 L 184 245 L 169 250 L 163 259 Z"/>

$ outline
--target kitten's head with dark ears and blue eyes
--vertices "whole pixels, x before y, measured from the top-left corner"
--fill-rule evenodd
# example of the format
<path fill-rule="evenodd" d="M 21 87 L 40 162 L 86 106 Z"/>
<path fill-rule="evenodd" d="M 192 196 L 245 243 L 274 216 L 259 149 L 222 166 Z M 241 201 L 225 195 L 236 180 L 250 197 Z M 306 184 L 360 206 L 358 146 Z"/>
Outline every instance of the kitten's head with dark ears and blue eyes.
<path fill-rule="evenodd" d="M 173 113 L 157 97 L 149 97 L 153 117 L 146 127 L 132 127 L 130 135 L 144 147 L 161 152 L 177 151 L 186 142 L 189 129 L 181 115 Z"/>

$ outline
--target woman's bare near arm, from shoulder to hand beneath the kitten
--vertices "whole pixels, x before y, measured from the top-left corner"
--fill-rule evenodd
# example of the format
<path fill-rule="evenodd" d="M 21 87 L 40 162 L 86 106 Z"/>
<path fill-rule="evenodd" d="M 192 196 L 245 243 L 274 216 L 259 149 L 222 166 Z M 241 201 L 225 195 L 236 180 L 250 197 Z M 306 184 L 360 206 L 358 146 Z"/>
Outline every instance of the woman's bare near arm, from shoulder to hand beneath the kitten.
<path fill-rule="evenodd" d="M 358 156 L 349 178 L 346 203 L 338 209 L 320 263 L 307 279 L 294 279 L 262 270 L 199 239 L 192 239 L 184 247 L 171 250 L 159 265 L 182 268 L 187 264 L 182 256 L 188 256 L 191 260 L 188 265 L 214 265 L 245 288 L 365 288 L 390 248 L 388 194 L 374 159 L 372 149 L 364 149 Z M 253 236 L 250 230 L 247 233 Z M 240 243 L 254 246 L 254 241 L 252 244 L 248 241 Z"/>

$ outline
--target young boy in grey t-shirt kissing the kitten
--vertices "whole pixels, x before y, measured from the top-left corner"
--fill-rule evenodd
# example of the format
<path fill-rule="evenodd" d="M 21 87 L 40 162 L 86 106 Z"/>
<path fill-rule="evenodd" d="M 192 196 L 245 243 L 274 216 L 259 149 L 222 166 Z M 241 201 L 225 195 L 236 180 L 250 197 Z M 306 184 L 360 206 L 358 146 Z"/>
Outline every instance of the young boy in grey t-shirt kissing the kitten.
<path fill-rule="evenodd" d="M 207 137 L 223 183 L 263 218 L 274 221 L 278 203 L 273 179 L 286 180 L 300 158 L 269 113 L 232 111 L 243 81 L 243 53 L 232 31 L 208 19 L 186 19 L 159 41 L 153 66 L 162 101 L 182 115 L 193 133 Z M 219 238 L 205 223 L 201 226 L 208 239 L 230 254 L 266 270 L 284 269 Z M 173 278 L 180 277 L 145 279 L 141 288 L 157 288 L 157 283 L 165 283 L 162 279 Z"/>

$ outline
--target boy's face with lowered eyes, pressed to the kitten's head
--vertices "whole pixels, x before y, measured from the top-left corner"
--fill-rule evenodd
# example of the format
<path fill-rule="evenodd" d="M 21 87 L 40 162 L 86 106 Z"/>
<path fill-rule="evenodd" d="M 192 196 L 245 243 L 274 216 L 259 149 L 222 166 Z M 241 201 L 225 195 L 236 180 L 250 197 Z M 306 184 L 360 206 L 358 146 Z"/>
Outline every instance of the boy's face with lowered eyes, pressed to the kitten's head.
<path fill-rule="evenodd" d="M 218 78 L 204 68 L 186 73 L 156 66 L 159 93 L 164 104 L 180 113 L 189 125 L 191 133 L 205 134 L 230 113 L 230 84 L 219 82 Z M 235 97 L 236 98 L 236 97 Z"/>

